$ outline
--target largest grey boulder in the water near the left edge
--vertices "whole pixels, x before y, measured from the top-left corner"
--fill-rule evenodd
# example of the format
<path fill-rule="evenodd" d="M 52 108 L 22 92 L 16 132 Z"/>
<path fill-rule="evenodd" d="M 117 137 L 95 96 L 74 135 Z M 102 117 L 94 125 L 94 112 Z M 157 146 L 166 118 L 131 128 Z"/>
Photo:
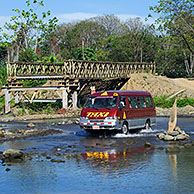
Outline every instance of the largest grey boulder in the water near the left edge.
<path fill-rule="evenodd" d="M 24 153 L 21 150 L 17 149 L 8 149 L 3 152 L 3 157 L 5 161 L 15 161 L 15 160 L 20 160 L 22 161 L 25 157 Z"/>

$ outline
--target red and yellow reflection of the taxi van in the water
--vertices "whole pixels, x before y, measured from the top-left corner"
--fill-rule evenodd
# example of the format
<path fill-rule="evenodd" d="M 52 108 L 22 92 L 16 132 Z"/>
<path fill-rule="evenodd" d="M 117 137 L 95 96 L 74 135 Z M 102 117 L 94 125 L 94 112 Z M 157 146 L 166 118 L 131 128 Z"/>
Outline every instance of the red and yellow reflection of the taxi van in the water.
<path fill-rule="evenodd" d="M 155 148 L 145 148 L 144 146 L 124 148 L 121 152 L 115 149 L 105 152 L 86 152 L 82 153 L 86 163 L 96 169 L 100 169 L 104 173 L 126 173 L 126 169 L 133 170 L 138 168 L 141 163 L 149 162 Z"/>

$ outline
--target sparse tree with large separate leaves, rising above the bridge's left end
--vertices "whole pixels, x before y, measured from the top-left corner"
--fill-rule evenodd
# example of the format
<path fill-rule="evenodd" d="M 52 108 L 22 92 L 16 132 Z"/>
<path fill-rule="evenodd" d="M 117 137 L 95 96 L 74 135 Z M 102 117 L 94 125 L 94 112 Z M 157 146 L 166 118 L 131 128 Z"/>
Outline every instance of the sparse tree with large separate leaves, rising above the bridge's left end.
<path fill-rule="evenodd" d="M 13 9 L 16 15 L 11 17 L 10 23 L 4 25 L 5 29 L 13 32 L 11 35 L 3 33 L 3 36 L 13 43 L 12 49 L 16 48 L 14 60 L 18 60 L 20 52 L 29 47 L 33 47 L 36 52 L 39 44 L 56 29 L 58 19 L 49 18 L 50 11 L 42 12 L 42 16 L 38 16 L 37 10 L 42 6 L 43 1 L 27 0 L 27 9 Z M 47 18 L 49 19 L 46 20 Z"/>

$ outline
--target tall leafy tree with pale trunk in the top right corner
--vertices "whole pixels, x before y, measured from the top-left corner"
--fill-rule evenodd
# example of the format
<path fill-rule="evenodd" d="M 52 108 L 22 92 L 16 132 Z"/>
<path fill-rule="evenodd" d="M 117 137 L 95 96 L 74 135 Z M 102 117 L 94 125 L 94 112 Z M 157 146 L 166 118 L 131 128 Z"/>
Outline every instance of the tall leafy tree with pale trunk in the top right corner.
<path fill-rule="evenodd" d="M 158 0 L 150 10 L 160 14 L 156 20 L 160 30 L 176 37 L 181 45 L 186 72 L 193 74 L 194 65 L 194 0 Z"/>

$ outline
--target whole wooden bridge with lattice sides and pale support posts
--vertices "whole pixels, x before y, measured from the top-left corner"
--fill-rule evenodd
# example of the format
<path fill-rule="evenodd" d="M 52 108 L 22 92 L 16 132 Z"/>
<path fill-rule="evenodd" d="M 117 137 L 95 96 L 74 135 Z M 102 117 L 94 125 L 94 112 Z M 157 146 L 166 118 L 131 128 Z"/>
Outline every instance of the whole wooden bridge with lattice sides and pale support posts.
<path fill-rule="evenodd" d="M 66 60 L 64 63 L 12 62 L 7 64 L 8 84 L 5 91 L 5 113 L 10 112 L 10 101 L 56 102 L 62 107 L 77 108 L 77 95 L 89 82 L 129 79 L 132 73 L 155 72 L 155 63 L 102 62 Z M 44 87 L 22 87 L 23 80 L 49 80 Z M 52 82 L 54 81 L 54 85 Z M 116 82 L 115 82 L 116 83 Z M 113 89 L 113 88 L 112 88 Z M 41 92 L 48 92 L 50 99 Z M 55 94 L 52 94 L 52 93 Z M 54 99 L 51 99 L 54 97 Z"/>

